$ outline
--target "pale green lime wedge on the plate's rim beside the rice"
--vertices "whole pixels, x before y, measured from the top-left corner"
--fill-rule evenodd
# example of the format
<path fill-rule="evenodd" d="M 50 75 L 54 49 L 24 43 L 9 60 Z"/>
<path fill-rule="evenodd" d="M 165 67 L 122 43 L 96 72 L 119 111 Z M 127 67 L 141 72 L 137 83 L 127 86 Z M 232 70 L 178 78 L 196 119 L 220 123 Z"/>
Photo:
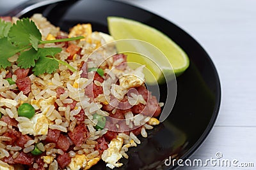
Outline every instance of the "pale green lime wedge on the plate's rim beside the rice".
<path fill-rule="evenodd" d="M 166 67 L 164 60 L 161 59 L 153 59 L 154 62 L 156 62 L 159 67 L 161 67 L 160 69 L 156 69 L 154 66 L 150 66 L 150 62 L 143 60 L 141 57 L 132 55 L 128 55 L 127 57 L 128 62 L 146 64 L 146 67 L 152 71 L 152 74 L 155 76 L 158 83 L 163 83 L 165 81 L 163 80 L 164 77 L 159 72 L 164 71 L 168 73 L 168 70 L 170 70 L 170 72 L 174 72 L 175 75 L 178 76 L 182 74 L 189 66 L 188 55 L 186 55 L 180 46 L 174 43 L 172 39 L 168 38 L 168 36 L 163 34 L 163 32 L 160 32 L 153 27 L 127 18 L 108 17 L 108 29 L 109 33 L 115 40 L 139 39 L 141 41 L 150 43 L 153 46 L 156 46 L 161 52 L 163 52 L 163 54 L 172 65 L 171 67 Z M 125 48 L 125 45 L 119 45 L 117 49 L 118 52 L 124 52 Z M 147 46 L 145 48 L 147 48 Z M 146 75 L 145 78 L 147 81 L 151 81 L 150 76 L 147 77 Z"/>

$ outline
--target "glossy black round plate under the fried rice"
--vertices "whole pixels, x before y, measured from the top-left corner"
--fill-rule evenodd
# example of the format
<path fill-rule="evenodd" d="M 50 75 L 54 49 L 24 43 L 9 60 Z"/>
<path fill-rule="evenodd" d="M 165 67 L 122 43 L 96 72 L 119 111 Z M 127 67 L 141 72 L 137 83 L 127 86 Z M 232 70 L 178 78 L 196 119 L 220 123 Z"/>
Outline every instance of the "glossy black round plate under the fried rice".
<path fill-rule="evenodd" d="M 63 1 L 28 11 L 22 17 L 31 17 L 33 13 L 42 13 L 63 31 L 78 23 L 90 22 L 94 31 L 108 33 L 106 17 L 109 15 L 131 18 L 156 27 L 188 53 L 191 63 L 177 78 L 177 99 L 172 113 L 148 132 L 148 138 L 140 138 L 141 145 L 129 149 L 129 159 L 121 159 L 124 166 L 119 169 L 155 169 L 160 166 L 175 169 L 177 166 L 165 166 L 164 160 L 170 155 L 187 159 L 202 144 L 220 108 L 220 80 L 202 46 L 177 25 L 141 8 L 106 0 Z M 165 88 L 166 85 L 161 87 L 161 96 L 164 96 Z M 106 164 L 100 161 L 92 169 L 106 169 Z"/>

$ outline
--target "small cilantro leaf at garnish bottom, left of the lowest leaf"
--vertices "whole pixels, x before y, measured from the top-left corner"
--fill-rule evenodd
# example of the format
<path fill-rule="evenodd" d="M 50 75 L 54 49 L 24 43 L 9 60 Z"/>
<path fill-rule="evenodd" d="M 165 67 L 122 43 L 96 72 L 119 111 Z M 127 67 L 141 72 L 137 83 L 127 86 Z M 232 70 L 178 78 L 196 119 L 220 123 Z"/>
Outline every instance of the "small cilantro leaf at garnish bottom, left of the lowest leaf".
<path fill-rule="evenodd" d="M 28 51 L 20 53 L 20 56 L 17 60 L 18 66 L 24 69 L 35 67 L 35 60 L 38 60 L 38 58 L 39 53 L 36 52 L 34 48 L 31 48 Z"/>

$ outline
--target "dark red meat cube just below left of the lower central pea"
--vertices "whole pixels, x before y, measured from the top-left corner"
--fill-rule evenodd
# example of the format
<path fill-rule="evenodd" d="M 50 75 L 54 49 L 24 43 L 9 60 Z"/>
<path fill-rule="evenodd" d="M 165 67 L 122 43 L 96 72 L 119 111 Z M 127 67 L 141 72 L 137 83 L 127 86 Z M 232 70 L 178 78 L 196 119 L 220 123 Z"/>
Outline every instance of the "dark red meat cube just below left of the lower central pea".
<path fill-rule="evenodd" d="M 69 131 L 68 136 L 76 146 L 81 146 L 84 141 L 89 137 L 89 132 L 85 124 L 79 124 L 75 127 L 74 131 Z"/>

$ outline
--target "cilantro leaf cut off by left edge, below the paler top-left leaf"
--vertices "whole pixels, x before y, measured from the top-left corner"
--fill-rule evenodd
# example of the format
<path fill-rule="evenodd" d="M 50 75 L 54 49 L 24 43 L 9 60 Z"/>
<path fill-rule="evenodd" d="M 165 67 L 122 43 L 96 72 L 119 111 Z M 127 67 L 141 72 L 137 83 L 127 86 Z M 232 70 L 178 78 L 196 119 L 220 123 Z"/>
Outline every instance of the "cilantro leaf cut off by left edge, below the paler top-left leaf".
<path fill-rule="evenodd" d="M 19 52 L 22 48 L 17 46 L 13 46 L 7 38 L 0 39 L 0 67 L 4 69 L 8 66 L 11 66 L 11 62 L 8 61 L 8 58 L 15 55 L 15 53 Z"/>

